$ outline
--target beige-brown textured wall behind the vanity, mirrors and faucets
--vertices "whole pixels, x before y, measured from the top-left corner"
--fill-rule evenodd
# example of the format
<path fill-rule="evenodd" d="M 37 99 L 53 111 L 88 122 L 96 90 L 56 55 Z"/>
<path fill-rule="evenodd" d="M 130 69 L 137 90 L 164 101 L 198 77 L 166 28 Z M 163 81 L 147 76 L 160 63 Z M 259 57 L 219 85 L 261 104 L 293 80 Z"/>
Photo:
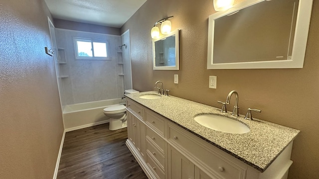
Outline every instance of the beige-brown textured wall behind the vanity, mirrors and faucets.
<path fill-rule="evenodd" d="M 236 2 L 243 0 L 236 0 Z M 221 107 L 229 91 L 239 93 L 239 112 L 261 109 L 256 118 L 301 130 L 294 142 L 290 179 L 319 178 L 319 1 L 314 0 L 303 69 L 207 70 L 208 16 L 212 0 L 148 0 L 121 28 L 130 29 L 133 88 L 154 90 L 162 81 L 172 95 Z M 153 71 L 151 28 L 173 15 L 172 29 L 180 29 L 179 71 Z M 179 84 L 173 84 L 173 74 Z M 217 89 L 208 76 L 217 76 Z M 164 106 L 163 106 L 164 107 Z M 228 105 L 232 108 L 232 104 Z"/>

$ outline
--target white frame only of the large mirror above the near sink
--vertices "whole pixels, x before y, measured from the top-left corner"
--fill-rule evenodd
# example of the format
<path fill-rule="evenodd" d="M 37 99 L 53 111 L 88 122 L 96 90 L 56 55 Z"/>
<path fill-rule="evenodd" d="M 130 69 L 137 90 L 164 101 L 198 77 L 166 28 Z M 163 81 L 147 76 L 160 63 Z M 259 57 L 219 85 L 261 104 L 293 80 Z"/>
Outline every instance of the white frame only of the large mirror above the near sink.
<path fill-rule="evenodd" d="M 214 24 L 215 19 L 254 5 L 264 0 L 245 0 L 235 4 L 232 8 L 219 11 L 209 15 L 208 19 L 208 53 L 207 69 L 281 69 L 281 68 L 303 68 L 306 54 L 308 32 L 310 26 L 313 0 L 299 0 L 295 40 L 292 51 L 292 58 L 289 60 L 273 60 L 258 62 L 239 62 L 239 63 L 219 63 L 214 64 L 213 46 L 214 46 Z"/>

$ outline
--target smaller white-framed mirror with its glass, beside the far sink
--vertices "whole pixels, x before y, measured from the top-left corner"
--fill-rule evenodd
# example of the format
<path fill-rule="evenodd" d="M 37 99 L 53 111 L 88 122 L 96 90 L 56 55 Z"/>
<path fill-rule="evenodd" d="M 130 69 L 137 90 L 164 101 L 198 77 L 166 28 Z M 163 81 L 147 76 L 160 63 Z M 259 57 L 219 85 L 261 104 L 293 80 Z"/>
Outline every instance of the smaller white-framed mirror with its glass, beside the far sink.
<path fill-rule="evenodd" d="M 153 70 L 179 70 L 178 29 L 153 39 Z"/>

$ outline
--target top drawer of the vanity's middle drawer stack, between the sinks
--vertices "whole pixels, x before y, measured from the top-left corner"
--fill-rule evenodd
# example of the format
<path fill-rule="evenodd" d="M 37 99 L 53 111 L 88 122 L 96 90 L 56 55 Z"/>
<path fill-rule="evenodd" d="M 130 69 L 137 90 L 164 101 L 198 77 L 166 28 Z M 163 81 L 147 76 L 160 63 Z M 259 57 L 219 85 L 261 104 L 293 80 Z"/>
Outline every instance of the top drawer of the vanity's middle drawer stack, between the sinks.
<path fill-rule="evenodd" d="M 145 122 L 156 130 L 161 136 L 164 136 L 164 119 L 160 118 L 158 114 L 146 110 L 145 111 Z"/>

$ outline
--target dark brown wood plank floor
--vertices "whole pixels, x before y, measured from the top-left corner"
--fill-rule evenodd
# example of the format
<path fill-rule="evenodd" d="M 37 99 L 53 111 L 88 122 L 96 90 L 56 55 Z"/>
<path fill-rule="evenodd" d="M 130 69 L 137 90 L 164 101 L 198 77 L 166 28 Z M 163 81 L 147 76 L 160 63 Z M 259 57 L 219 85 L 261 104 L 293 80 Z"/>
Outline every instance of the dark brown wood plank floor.
<path fill-rule="evenodd" d="M 109 123 L 67 132 L 57 179 L 147 179 L 126 139 L 127 128 Z"/>

